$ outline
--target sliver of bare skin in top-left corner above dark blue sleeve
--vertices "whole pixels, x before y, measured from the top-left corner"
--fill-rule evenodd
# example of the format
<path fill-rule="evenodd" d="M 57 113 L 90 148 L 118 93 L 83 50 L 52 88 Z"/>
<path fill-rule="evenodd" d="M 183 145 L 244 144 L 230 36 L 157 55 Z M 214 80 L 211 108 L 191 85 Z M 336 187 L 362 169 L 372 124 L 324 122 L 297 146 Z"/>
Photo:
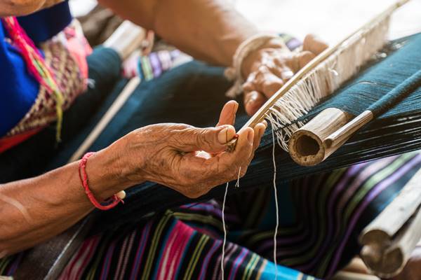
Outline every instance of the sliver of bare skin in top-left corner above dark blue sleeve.
<path fill-rule="evenodd" d="M 2 0 L 0 1 L 0 17 L 28 15 L 62 1 L 64 0 Z"/>

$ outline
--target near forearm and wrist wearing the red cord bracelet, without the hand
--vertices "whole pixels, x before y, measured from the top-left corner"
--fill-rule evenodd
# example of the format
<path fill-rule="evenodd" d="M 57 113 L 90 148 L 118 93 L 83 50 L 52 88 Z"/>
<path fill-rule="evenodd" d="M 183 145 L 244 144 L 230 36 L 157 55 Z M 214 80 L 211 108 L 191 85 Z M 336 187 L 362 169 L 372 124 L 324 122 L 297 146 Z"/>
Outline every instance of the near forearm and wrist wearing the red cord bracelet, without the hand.
<path fill-rule="evenodd" d="M 98 200 L 130 186 L 119 176 L 118 156 L 107 148 L 86 166 Z M 79 162 L 44 175 L 0 185 L 0 258 L 45 241 L 93 210 L 79 179 Z"/>

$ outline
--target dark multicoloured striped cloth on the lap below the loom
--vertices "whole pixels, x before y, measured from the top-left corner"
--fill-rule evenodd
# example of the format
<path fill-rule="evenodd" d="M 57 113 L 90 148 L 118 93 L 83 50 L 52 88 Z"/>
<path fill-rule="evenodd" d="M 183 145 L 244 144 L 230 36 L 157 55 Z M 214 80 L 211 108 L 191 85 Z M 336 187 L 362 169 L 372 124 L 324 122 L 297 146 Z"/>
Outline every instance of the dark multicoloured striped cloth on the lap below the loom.
<path fill-rule="evenodd" d="M 363 227 L 420 168 L 421 153 L 407 153 L 279 185 L 278 279 L 335 274 L 359 252 Z M 274 279 L 273 197 L 263 189 L 227 199 L 225 279 Z M 221 215 L 210 200 L 95 235 L 61 279 L 220 279 Z M 19 258 L 0 260 L 0 274 L 13 274 Z"/>

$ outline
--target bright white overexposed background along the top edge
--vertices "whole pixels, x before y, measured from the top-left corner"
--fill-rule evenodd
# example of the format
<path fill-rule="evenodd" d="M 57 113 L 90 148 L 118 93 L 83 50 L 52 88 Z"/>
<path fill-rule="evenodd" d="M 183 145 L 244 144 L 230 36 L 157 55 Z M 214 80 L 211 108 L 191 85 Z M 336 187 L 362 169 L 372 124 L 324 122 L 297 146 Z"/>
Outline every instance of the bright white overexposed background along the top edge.
<path fill-rule="evenodd" d="M 396 0 L 227 1 L 265 31 L 289 33 L 298 38 L 314 33 L 328 43 L 335 43 Z M 93 9 L 96 1 L 70 0 L 70 4 L 74 15 L 81 16 Z M 410 1 L 394 14 L 390 38 L 415 32 L 421 32 L 421 0 Z"/>

